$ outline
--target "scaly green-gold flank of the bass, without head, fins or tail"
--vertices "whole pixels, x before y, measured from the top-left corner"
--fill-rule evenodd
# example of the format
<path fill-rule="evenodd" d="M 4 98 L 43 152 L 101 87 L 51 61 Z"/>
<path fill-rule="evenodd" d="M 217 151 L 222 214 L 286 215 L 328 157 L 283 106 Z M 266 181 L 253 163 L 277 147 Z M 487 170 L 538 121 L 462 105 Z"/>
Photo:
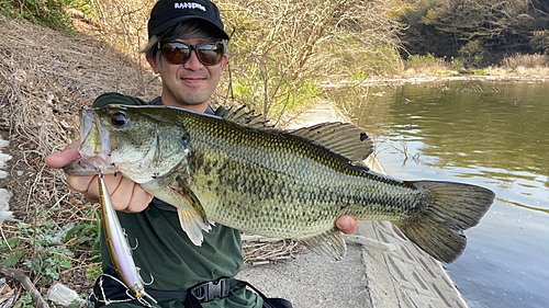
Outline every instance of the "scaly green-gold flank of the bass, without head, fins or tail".
<path fill-rule="evenodd" d="M 197 117 L 180 123 L 193 148 L 191 189 L 210 219 L 223 217 L 229 227 L 300 239 L 329 230 L 341 215 L 404 221 L 419 210 L 412 193 L 417 189 L 365 172 L 302 138 L 222 121 L 204 125 Z"/>

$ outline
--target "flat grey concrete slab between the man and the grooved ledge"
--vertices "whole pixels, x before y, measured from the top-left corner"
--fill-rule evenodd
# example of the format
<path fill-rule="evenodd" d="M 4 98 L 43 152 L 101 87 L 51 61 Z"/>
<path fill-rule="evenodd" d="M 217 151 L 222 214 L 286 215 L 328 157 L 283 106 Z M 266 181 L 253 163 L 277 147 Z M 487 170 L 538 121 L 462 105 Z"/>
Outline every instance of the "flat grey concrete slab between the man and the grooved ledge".
<path fill-rule="evenodd" d="M 268 297 L 282 297 L 295 308 L 370 308 L 367 271 L 360 246 L 350 244 L 341 262 L 307 251 L 295 260 L 267 265 L 246 265 L 237 278 Z"/>

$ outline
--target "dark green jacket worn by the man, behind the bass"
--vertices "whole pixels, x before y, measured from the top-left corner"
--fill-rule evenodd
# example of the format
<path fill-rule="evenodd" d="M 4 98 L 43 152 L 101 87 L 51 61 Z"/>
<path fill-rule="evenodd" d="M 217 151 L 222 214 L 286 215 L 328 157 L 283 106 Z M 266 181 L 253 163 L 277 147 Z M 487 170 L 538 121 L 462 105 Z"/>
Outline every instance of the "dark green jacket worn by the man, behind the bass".
<path fill-rule="evenodd" d="M 107 93 L 100 95 L 93 107 L 108 104 L 147 105 L 160 104 L 159 99 L 152 102 Z M 210 232 L 203 232 L 204 242 L 194 246 L 179 225 L 178 215 L 171 206 L 154 199 L 141 213 L 119 212 L 131 247 L 135 247 L 133 258 L 147 288 L 159 290 L 187 289 L 199 283 L 213 282 L 220 277 L 233 277 L 242 271 L 240 232 L 216 224 Z M 104 273 L 114 271 L 104 236 L 101 237 L 102 269 Z M 182 307 L 180 300 L 159 301 L 161 307 Z M 137 301 L 112 304 L 113 307 L 143 307 Z M 202 305 L 210 307 L 253 308 L 261 307 L 262 299 L 243 288 L 234 288 L 229 296 Z M 109 305 L 111 307 L 111 305 Z"/>

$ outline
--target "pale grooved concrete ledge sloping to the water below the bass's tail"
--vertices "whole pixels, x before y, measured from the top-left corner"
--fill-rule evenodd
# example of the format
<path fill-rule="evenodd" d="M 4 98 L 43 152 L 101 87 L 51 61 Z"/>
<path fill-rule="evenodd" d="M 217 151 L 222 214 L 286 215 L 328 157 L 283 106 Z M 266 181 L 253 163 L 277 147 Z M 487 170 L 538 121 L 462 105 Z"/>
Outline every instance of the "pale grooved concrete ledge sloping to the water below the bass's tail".
<path fill-rule="evenodd" d="M 396 247 L 396 253 L 363 248 L 372 307 L 469 307 L 441 263 L 391 223 L 360 221 L 359 232 Z"/>

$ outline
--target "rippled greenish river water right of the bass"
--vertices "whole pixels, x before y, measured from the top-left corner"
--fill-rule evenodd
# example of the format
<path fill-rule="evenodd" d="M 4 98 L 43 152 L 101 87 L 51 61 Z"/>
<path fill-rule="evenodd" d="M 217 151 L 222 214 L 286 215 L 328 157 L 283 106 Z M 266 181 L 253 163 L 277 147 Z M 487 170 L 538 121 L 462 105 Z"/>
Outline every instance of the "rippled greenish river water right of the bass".
<path fill-rule="evenodd" d="M 446 264 L 469 305 L 549 307 L 549 83 L 445 81 L 359 94 L 347 107 L 374 135 L 389 175 L 495 192 L 466 231 L 464 253 Z"/>

